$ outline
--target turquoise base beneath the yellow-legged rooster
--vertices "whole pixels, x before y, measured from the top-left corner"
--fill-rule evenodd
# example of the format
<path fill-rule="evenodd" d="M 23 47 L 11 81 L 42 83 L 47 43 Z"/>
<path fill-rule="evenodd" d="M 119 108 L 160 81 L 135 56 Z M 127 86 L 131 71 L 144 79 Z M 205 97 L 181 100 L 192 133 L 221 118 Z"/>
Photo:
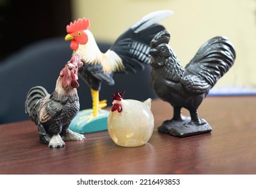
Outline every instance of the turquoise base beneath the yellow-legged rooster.
<path fill-rule="evenodd" d="M 92 116 L 92 109 L 84 109 L 77 113 L 69 129 L 80 134 L 108 130 L 109 111 L 101 109 L 98 116 Z"/>

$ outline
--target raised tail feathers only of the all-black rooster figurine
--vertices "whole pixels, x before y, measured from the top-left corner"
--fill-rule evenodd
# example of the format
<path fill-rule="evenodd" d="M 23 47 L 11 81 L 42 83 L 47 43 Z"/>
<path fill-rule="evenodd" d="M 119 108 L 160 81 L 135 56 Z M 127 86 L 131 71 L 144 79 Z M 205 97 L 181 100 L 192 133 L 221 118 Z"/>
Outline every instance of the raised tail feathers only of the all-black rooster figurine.
<path fill-rule="evenodd" d="M 216 84 L 234 64 L 236 52 L 228 38 L 217 36 L 205 42 L 185 68 L 193 72 L 200 67 L 199 74 L 207 83 Z"/>

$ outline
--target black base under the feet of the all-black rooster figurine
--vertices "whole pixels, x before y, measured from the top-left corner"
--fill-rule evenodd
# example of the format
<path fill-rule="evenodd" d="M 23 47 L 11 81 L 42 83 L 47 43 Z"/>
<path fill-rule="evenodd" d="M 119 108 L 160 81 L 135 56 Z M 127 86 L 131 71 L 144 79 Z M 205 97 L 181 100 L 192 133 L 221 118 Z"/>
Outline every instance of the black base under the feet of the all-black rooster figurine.
<path fill-rule="evenodd" d="M 201 119 L 201 121 L 203 121 L 204 124 L 197 125 L 191 122 L 190 117 L 183 116 L 183 121 L 164 121 L 162 126 L 158 127 L 158 131 L 181 138 L 211 132 L 211 126 L 205 120 Z"/>

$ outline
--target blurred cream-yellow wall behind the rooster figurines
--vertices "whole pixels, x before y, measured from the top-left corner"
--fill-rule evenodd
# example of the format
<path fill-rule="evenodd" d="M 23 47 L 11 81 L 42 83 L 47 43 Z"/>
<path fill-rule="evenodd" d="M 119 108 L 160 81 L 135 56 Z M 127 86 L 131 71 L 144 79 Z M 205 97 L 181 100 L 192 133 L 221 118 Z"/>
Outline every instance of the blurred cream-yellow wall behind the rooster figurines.
<path fill-rule="evenodd" d="M 89 17 L 96 40 L 113 42 L 143 15 L 160 9 L 174 11 L 161 23 L 183 65 L 203 42 L 226 36 L 236 49 L 236 62 L 217 85 L 256 88 L 255 0 L 73 0 L 73 19 Z"/>

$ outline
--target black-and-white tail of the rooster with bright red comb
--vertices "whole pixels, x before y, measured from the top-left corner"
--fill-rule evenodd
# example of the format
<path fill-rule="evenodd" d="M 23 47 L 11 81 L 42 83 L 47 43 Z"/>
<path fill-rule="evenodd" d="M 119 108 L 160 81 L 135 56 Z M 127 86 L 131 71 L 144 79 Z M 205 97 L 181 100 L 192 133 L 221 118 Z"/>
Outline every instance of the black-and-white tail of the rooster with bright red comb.
<path fill-rule="evenodd" d="M 110 50 L 123 61 L 125 73 L 143 70 L 143 64 L 150 63 L 150 42 L 158 32 L 165 30 L 158 21 L 172 15 L 172 11 L 156 11 L 137 21 L 115 41 Z"/>

